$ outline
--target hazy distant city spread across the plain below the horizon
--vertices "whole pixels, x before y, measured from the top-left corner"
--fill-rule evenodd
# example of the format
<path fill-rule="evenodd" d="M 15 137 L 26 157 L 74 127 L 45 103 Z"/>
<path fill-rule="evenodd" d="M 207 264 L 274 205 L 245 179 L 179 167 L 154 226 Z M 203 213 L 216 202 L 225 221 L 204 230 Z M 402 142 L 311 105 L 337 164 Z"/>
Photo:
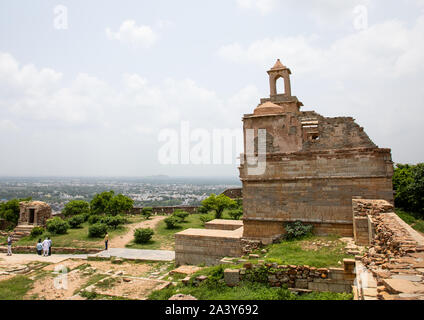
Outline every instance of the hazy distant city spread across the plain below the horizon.
<path fill-rule="evenodd" d="M 0 177 L 0 200 L 31 197 L 60 212 L 71 200 L 91 201 L 95 194 L 113 190 L 132 198 L 135 206 L 198 205 L 211 193 L 237 187 L 237 178 Z"/>

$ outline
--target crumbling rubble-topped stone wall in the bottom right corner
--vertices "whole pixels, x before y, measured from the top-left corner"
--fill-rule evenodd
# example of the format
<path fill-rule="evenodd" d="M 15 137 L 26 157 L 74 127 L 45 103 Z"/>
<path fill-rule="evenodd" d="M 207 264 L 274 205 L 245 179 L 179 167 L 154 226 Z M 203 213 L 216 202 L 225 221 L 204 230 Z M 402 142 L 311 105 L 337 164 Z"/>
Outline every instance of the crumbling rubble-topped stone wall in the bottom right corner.
<path fill-rule="evenodd" d="M 359 204 L 358 212 L 365 212 L 371 221 L 372 239 L 368 252 L 358 257 L 357 298 L 424 300 L 424 237 L 388 212 L 387 204 L 376 200 Z"/>

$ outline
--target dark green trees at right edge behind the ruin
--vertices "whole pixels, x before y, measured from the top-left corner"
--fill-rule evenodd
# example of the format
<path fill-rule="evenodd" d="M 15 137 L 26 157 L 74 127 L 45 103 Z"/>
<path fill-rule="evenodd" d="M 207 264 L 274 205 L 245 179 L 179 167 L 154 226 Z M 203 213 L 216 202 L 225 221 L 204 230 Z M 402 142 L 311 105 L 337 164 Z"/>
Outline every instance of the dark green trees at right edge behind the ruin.
<path fill-rule="evenodd" d="M 393 174 L 395 206 L 424 217 L 424 163 L 396 164 Z"/>

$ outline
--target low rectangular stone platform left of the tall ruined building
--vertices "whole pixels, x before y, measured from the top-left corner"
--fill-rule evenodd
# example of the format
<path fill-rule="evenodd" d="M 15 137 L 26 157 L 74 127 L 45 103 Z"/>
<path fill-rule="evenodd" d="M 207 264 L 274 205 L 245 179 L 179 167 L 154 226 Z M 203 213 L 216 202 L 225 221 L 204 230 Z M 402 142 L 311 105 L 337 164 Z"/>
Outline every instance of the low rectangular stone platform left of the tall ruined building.
<path fill-rule="evenodd" d="M 240 238 L 243 228 L 237 230 L 186 229 L 175 234 L 175 264 L 219 264 L 225 257 L 242 255 Z"/>

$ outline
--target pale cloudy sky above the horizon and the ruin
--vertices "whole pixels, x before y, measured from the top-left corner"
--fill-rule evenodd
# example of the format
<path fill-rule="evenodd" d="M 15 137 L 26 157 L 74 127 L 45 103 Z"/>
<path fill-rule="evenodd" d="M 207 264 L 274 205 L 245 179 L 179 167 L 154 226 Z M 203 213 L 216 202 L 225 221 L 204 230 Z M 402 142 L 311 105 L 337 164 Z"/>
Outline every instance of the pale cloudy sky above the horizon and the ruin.
<path fill-rule="evenodd" d="M 2 0 L 0 176 L 237 176 L 161 133 L 240 130 L 277 58 L 303 110 L 424 161 L 423 0 Z"/>

